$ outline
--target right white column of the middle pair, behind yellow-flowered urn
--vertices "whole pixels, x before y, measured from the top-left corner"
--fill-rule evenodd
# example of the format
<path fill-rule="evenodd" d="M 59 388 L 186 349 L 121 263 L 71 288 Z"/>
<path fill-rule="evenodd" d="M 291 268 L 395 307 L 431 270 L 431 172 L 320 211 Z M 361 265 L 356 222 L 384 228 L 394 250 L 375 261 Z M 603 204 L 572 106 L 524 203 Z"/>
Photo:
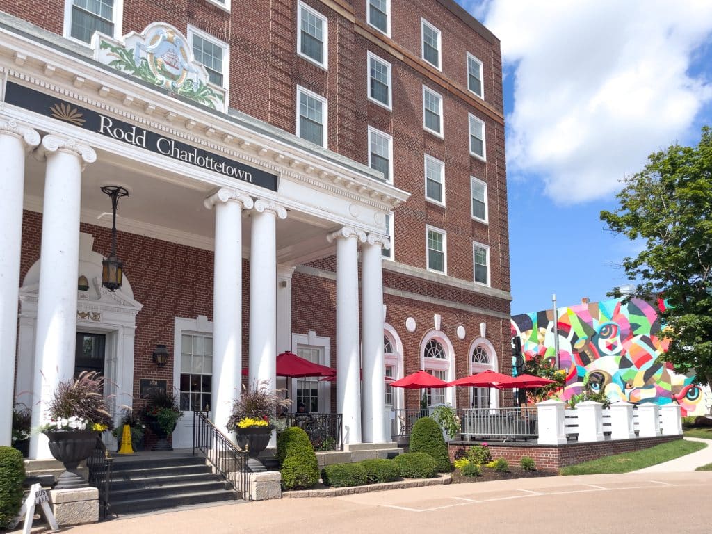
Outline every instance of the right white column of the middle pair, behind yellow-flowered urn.
<path fill-rule="evenodd" d="M 277 236 L 276 219 L 286 209 L 258 199 L 251 213 L 250 237 L 250 370 L 248 387 L 268 382 L 276 389 Z"/>

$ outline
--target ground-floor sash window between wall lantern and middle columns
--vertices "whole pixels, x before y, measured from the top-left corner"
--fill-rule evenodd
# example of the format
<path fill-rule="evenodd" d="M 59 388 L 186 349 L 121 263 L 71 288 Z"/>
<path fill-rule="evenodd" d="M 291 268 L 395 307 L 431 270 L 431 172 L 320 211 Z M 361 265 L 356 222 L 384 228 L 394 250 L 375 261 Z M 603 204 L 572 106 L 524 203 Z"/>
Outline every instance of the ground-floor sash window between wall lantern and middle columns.
<path fill-rule="evenodd" d="M 199 334 L 181 336 L 180 407 L 206 410 L 212 407 L 213 338 Z"/>

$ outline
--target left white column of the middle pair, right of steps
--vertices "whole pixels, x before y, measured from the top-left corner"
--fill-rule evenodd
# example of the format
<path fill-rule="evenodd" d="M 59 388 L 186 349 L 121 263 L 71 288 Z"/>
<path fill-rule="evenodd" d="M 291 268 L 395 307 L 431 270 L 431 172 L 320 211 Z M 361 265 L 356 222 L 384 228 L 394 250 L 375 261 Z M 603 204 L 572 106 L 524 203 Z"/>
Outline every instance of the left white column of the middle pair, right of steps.
<path fill-rule="evenodd" d="M 246 194 L 220 189 L 204 201 L 215 208 L 213 278 L 213 422 L 226 436 L 242 379 L 242 209 Z"/>

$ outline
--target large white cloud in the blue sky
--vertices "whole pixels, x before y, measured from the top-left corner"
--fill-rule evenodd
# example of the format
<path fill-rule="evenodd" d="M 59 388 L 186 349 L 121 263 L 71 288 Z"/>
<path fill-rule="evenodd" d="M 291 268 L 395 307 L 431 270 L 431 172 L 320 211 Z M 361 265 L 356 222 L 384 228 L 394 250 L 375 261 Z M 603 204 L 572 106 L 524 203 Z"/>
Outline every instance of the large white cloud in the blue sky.
<path fill-rule="evenodd" d="M 560 204 L 614 192 L 651 152 L 687 140 L 712 98 L 688 73 L 712 1 L 488 0 L 471 12 L 483 10 L 515 68 L 509 172 L 537 174 Z"/>

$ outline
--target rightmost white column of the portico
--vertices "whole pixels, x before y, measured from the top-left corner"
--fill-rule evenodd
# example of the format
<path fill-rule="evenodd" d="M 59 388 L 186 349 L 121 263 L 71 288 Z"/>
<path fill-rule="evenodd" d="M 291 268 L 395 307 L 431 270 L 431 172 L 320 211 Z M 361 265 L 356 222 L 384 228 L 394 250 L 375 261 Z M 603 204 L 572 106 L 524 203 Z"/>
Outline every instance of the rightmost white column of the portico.
<path fill-rule="evenodd" d="M 361 351 L 363 365 L 363 441 L 385 443 L 386 399 L 383 370 L 383 265 L 387 236 L 369 234 L 361 247 Z"/>

